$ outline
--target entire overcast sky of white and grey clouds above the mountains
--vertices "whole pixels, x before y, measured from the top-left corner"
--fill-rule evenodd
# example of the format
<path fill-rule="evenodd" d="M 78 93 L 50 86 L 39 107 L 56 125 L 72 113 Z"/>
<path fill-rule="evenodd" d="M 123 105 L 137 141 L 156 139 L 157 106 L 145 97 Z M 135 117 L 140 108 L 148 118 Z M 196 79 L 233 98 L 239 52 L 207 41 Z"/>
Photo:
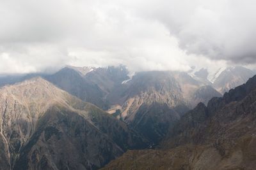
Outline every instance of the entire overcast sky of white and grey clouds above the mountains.
<path fill-rule="evenodd" d="M 0 73 L 256 63 L 256 1 L 0 0 Z"/>

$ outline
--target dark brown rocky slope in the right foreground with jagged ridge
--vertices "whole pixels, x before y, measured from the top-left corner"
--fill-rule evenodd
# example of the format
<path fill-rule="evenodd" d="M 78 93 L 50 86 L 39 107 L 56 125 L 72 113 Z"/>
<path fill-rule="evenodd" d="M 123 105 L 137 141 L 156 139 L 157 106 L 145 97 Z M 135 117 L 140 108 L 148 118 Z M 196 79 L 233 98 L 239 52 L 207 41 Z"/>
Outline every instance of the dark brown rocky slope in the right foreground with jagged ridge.
<path fill-rule="evenodd" d="M 104 169 L 255 169 L 256 76 L 198 104 L 157 150 L 129 151 Z"/>

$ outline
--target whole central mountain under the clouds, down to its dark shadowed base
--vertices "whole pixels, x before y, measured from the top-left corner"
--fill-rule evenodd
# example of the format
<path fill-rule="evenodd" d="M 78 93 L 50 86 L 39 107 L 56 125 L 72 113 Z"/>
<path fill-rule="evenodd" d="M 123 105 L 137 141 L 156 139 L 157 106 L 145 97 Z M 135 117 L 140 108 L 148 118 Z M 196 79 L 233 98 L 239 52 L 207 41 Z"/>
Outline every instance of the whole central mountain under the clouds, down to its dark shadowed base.
<path fill-rule="evenodd" d="M 189 108 L 214 96 L 221 95 L 187 73 L 147 71 L 117 86 L 107 100 L 114 105 L 110 113 L 116 108 L 118 118 L 158 143 Z"/>

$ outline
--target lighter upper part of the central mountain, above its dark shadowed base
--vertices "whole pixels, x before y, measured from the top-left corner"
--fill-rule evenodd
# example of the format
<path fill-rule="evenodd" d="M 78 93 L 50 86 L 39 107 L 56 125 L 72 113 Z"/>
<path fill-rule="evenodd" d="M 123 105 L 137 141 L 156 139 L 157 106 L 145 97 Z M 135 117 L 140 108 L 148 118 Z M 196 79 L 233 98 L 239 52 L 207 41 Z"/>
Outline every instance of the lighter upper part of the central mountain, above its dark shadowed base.
<path fill-rule="evenodd" d="M 107 99 L 111 104 L 122 106 L 122 115 L 130 120 L 132 117 L 127 115 L 134 114 L 141 104 L 166 103 L 182 114 L 197 104 L 195 98 L 207 102 L 214 96 L 220 94 L 187 73 L 147 71 L 135 74 L 131 80 L 116 87 Z"/>

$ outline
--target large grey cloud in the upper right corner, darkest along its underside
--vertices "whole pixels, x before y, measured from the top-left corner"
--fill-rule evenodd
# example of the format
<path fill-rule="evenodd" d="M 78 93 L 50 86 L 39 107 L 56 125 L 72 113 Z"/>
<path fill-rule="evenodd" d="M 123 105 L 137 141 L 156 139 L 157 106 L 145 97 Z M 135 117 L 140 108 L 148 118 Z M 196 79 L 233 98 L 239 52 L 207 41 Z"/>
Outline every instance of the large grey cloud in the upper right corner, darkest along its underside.
<path fill-rule="evenodd" d="M 138 15 L 166 25 L 187 53 L 242 64 L 256 62 L 255 1 L 160 0 L 130 5 Z"/>

